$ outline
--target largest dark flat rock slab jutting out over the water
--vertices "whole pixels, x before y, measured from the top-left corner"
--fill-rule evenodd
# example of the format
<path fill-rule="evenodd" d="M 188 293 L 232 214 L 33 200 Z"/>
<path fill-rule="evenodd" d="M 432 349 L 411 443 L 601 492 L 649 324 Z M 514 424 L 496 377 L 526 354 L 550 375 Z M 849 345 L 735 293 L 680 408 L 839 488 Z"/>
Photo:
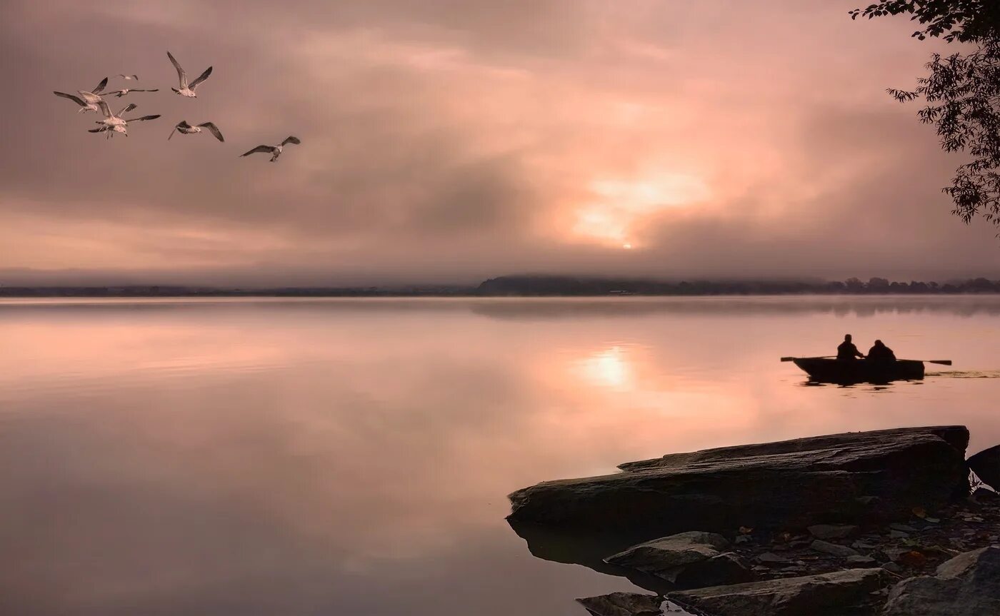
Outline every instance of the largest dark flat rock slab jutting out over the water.
<path fill-rule="evenodd" d="M 509 519 L 653 538 L 907 518 L 967 493 L 967 442 L 961 426 L 906 428 L 665 456 L 518 490 Z"/>

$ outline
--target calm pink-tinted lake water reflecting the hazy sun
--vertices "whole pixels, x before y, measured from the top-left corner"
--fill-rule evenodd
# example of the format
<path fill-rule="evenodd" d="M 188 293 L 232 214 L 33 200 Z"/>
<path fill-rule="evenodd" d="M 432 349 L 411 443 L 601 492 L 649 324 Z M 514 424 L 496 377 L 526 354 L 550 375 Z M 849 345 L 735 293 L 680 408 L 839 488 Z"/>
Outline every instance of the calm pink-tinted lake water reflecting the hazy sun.
<path fill-rule="evenodd" d="M 844 333 L 923 382 L 805 386 Z M 1000 298 L 0 301 L 0 613 L 577 615 L 506 494 L 737 443 L 1000 443 Z"/>

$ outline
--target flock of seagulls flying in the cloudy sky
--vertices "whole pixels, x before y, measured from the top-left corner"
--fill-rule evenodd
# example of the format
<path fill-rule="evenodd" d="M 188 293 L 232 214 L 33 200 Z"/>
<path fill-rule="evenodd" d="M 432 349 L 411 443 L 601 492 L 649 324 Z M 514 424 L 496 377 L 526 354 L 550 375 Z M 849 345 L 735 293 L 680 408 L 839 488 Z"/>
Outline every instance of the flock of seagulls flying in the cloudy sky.
<path fill-rule="evenodd" d="M 170 88 L 170 89 L 173 90 L 178 95 L 183 96 L 185 98 L 198 98 L 198 94 L 195 92 L 195 90 L 199 84 L 208 79 L 209 75 L 212 74 L 212 67 L 210 66 L 207 69 L 205 69 L 204 72 L 202 72 L 202 74 L 199 75 L 198 78 L 195 79 L 194 81 L 188 82 L 187 73 L 181 67 L 177 59 L 174 58 L 173 54 L 171 54 L 168 51 L 167 57 L 170 58 L 170 63 L 174 65 L 175 69 L 177 69 L 177 78 L 178 81 L 180 82 L 179 83 L 180 87 Z M 115 75 L 115 78 L 123 79 L 126 81 L 139 80 L 138 75 L 119 74 Z M 77 111 L 77 113 L 83 113 L 87 111 L 93 111 L 95 113 L 100 112 L 104 116 L 104 119 L 98 120 L 96 122 L 96 124 L 99 125 L 97 128 L 91 128 L 87 132 L 104 133 L 105 137 L 113 137 L 115 133 L 121 133 L 126 137 L 128 137 L 129 122 L 145 122 L 146 120 L 155 120 L 156 118 L 160 117 L 159 114 L 156 114 L 156 115 L 140 116 L 138 118 L 124 118 L 123 117 L 124 114 L 132 111 L 133 109 L 138 107 L 138 105 L 136 105 L 135 103 L 130 103 L 125 107 L 123 107 L 121 111 L 119 111 L 118 113 L 112 113 L 111 109 L 108 107 L 107 101 L 104 100 L 104 97 L 110 97 L 110 96 L 121 98 L 131 92 L 159 92 L 159 88 L 154 88 L 149 90 L 144 90 L 139 88 L 119 88 L 118 90 L 111 90 L 105 92 L 104 88 L 107 85 L 108 85 L 108 78 L 105 77 L 104 79 L 101 80 L 99 84 L 97 84 L 97 87 L 94 88 L 93 90 L 89 91 L 78 90 L 77 95 L 66 94 L 65 92 L 53 92 L 53 94 L 55 94 L 56 96 L 61 96 L 63 98 L 68 98 L 69 100 L 79 105 L 80 109 Z M 207 129 L 208 132 L 212 133 L 212 135 L 214 135 L 215 138 L 218 139 L 220 142 L 225 141 L 225 138 L 223 138 L 222 136 L 222 131 L 219 130 L 219 127 L 216 126 L 214 122 L 202 122 L 201 124 L 190 124 L 188 123 L 187 120 L 181 120 L 180 122 L 178 122 L 174 126 L 173 130 L 170 131 L 170 135 L 167 136 L 167 140 L 169 141 L 171 137 L 174 136 L 174 133 L 180 133 L 182 135 L 193 135 L 195 133 L 202 132 L 202 130 L 204 129 Z M 302 141 L 299 140 L 298 137 L 288 136 L 279 145 L 259 145 L 250 150 L 249 152 L 241 154 L 240 156 L 249 156 L 257 152 L 265 152 L 271 155 L 271 162 L 273 163 L 274 161 L 278 160 L 278 157 L 281 156 L 282 150 L 289 143 L 299 144 L 302 143 Z"/>

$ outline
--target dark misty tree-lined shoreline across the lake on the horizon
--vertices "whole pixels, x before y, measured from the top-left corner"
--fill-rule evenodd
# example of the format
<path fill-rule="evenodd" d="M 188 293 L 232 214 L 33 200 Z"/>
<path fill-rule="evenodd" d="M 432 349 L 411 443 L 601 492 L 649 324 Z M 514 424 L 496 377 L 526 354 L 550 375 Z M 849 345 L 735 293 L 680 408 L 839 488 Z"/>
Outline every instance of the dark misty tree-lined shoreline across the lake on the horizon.
<path fill-rule="evenodd" d="M 225 288 L 178 285 L 0 286 L 0 298 L 224 298 L 224 297 L 711 297 L 761 295 L 996 295 L 1000 280 L 890 282 L 841 281 L 664 282 L 570 276 L 501 276 L 478 286 Z"/>

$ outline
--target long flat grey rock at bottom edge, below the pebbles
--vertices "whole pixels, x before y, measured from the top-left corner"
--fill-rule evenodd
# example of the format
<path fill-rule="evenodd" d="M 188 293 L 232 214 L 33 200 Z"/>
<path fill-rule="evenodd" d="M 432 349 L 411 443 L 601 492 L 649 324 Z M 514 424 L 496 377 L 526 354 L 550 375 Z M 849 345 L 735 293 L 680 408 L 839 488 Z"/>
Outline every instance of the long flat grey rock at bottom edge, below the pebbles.
<path fill-rule="evenodd" d="M 677 603 L 710 616 L 803 616 L 837 614 L 864 603 L 888 583 L 882 569 L 781 578 L 670 593 Z"/>

